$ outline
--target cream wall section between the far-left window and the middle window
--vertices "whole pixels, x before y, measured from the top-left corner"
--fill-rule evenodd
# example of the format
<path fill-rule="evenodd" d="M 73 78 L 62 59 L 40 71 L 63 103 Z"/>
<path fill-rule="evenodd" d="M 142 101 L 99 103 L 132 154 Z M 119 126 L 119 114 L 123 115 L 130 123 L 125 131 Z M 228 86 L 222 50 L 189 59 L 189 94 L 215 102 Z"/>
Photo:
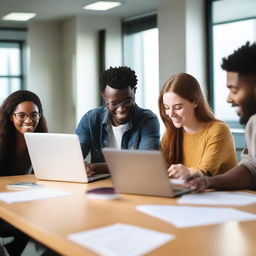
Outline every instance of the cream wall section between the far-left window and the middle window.
<path fill-rule="evenodd" d="M 106 68 L 122 65 L 119 18 L 80 16 L 29 25 L 28 86 L 40 97 L 50 132 L 74 133 L 99 104 L 98 31 L 106 29 Z"/>

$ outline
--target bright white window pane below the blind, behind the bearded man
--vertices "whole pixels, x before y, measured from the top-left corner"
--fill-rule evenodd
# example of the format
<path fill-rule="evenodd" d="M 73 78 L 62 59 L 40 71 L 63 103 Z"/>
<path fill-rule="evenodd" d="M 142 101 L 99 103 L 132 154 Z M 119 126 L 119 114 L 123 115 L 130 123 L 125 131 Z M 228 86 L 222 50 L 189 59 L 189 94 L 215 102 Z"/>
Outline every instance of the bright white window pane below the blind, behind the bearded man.
<path fill-rule="evenodd" d="M 243 35 L 243 36 L 238 36 Z M 256 40 L 256 19 L 233 21 L 213 25 L 213 64 L 214 64 L 214 111 L 215 115 L 226 121 L 238 120 L 234 109 L 226 102 L 228 89 L 226 72 L 221 67 L 221 59 L 234 52 L 234 49 L 245 44 L 246 41 Z"/>

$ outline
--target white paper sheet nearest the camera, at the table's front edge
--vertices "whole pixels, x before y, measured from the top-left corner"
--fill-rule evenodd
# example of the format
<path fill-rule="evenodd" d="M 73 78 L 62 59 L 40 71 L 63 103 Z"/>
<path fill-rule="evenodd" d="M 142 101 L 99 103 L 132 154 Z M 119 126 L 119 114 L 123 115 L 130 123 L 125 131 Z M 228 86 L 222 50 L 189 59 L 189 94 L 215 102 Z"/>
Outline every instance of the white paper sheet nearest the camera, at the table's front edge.
<path fill-rule="evenodd" d="M 171 234 L 117 223 L 90 231 L 70 234 L 72 241 L 104 256 L 137 256 L 173 240 Z"/>

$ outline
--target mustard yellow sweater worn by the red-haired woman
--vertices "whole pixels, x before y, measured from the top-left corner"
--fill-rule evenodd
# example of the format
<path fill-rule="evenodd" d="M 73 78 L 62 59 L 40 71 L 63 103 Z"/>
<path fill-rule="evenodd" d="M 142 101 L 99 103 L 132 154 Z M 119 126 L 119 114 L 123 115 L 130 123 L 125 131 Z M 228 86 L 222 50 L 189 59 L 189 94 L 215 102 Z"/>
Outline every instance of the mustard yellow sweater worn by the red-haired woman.
<path fill-rule="evenodd" d="M 207 175 L 224 173 L 237 165 L 233 137 L 220 121 L 205 123 L 195 134 L 183 131 L 183 163 Z"/>

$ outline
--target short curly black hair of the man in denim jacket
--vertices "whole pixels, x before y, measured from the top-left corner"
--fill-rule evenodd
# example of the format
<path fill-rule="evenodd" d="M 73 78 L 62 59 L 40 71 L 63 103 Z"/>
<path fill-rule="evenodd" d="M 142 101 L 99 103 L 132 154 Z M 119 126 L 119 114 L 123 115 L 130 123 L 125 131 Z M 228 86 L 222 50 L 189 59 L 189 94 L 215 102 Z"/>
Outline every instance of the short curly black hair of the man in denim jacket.
<path fill-rule="evenodd" d="M 101 91 L 103 92 L 107 85 L 114 89 L 124 89 L 129 86 L 133 89 L 137 82 L 135 72 L 129 67 L 110 67 L 101 76 Z"/>

